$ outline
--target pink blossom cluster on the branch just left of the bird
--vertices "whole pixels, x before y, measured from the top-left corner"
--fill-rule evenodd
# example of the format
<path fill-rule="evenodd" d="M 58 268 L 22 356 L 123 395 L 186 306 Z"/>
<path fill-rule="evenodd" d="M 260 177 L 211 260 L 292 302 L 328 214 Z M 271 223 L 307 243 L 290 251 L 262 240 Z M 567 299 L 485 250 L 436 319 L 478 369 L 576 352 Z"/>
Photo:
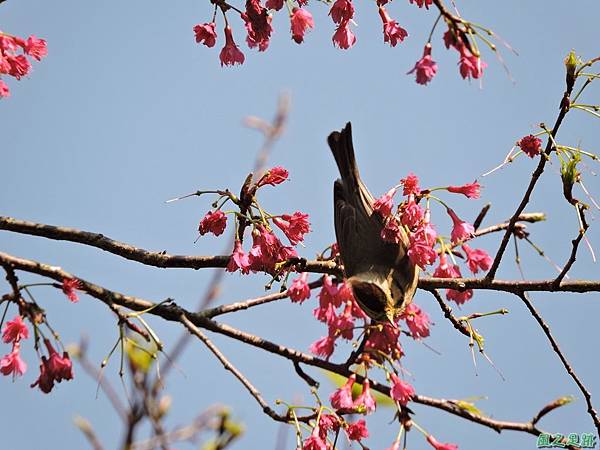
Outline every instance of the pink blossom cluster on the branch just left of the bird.
<path fill-rule="evenodd" d="M 310 231 L 308 214 L 296 211 L 293 214 L 272 215 L 263 210 L 256 199 L 258 189 L 270 185 L 276 186 L 288 178 L 288 171 L 283 167 L 268 170 L 258 181 L 244 186 L 242 196 L 237 198 L 229 191 L 217 191 L 219 199 L 214 203 L 215 209 L 206 213 L 200 221 L 200 235 L 212 233 L 221 235 L 227 226 L 227 216 L 233 215 L 236 223 L 236 239 L 233 253 L 226 270 L 250 272 L 267 272 L 277 275 L 281 266 L 298 253 L 294 246 L 304 241 L 304 235 Z M 223 201 L 221 201 L 223 200 Z M 223 206 L 233 202 L 239 209 L 224 212 Z M 243 223 L 243 225 L 242 225 Z M 243 248 L 242 228 L 252 228 L 252 247 L 248 252 Z M 279 229 L 290 245 L 284 245 L 274 230 Z"/>

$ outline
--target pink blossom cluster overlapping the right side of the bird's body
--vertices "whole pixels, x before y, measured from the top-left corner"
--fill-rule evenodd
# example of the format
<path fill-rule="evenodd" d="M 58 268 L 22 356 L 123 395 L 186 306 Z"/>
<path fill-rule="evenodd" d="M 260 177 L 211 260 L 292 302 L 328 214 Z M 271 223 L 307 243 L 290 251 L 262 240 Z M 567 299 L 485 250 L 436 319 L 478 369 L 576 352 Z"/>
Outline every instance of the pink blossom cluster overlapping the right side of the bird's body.
<path fill-rule="evenodd" d="M 406 198 L 394 210 L 393 199 L 397 191 L 402 188 L 402 195 Z M 473 238 L 475 229 L 472 224 L 462 220 L 456 212 L 445 202 L 433 195 L 434 191 L 445 190 L 454 194 L 462 194 L 467 198 L 477 199 L 481 186 L 477 181 L 462 186 L 445 186 L 440 188 L 421 190 L 419 179 L 409 174 L 400 181 L 400 184 L 390 189 L 375 201 L 374 211 L 383 219 L 385 226 L 381 238 L 389 242 L 401 242 L 403 236 L 408 236 L 408 257 L 411 262 L 422 269 L 435 264 L 439 259 L 433 276 L 440 278 L 461 278 L 460 267 L 454 262 L 455 254 L 464 257 L 469 270 L 476 274 L 479 270 L 486 271 L 490 268 L 492 258 L 482 249 L 472 249 L 466 241 Z M 450 219 L 452 230 L 448 237 L 438 235 L 435 226 L 431 223 L 430 201 L 439 202 Z M 423 208 L 422 203 L 426 206 Z M 436 245 L 439 247 L 436 249 Z M 462 253 L 457 248 L 461 247 Z M 448 257 L 453 261 L 448 262 Z M 462 304 L 473 296 L 473 291 L 446 290 L 446 298 Z"/>

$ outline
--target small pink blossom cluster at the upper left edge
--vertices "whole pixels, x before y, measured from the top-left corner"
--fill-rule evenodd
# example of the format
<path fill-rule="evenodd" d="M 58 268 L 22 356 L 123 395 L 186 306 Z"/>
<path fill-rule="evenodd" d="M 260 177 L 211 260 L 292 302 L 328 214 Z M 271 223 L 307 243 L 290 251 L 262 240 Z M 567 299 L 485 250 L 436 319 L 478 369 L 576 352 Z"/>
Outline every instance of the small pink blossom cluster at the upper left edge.
<path fill-rule="evenodd" d="M 31 70 L 28 56 L 40 61 L 47 54 L 44 39 L 35 36 L 22 39 L 0 31 L 0 98 L 10 96 L 10 90 L 2 80 L 2 75 L 10 75 L 20 80 Z"/>

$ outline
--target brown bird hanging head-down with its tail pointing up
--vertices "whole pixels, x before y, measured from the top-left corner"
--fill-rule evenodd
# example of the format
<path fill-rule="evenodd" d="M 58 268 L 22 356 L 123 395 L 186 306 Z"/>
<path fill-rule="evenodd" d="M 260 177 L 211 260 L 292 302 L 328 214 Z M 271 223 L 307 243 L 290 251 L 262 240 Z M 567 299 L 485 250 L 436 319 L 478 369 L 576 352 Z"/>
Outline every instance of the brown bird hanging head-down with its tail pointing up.
<path fill-rule="evenodd" d="M 412 301 L 419 268 L 407 255 L 408 236 L 384 241 L 384 219 L 373 210 L 373 195 L 360 178 L 350 122 L 327 138 L 340 178 L 333 184 L 334 225 L 344 278 L 361 309 L 376 322 L 396 326 Z"/>

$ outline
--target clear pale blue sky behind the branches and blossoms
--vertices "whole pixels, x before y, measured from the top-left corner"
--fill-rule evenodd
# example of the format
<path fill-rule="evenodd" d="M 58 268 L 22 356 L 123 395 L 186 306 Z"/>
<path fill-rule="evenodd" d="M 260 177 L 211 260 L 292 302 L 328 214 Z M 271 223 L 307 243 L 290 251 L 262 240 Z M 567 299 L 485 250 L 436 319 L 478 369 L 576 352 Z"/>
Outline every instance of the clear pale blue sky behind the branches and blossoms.
<path fill-rule="evenodd" d="M 314 232 L 307 237 L 303 254 L 312 257 L 334 240 L 331 192 L 337 173 L 325 145 L 329 132 L 353 122 L 363 177 L 376 195 L 409 171 L 418 174 L 424 186 L 472 181 L 501 161 L 519 137 L 536 130 L 536 124 L 553 123 L 564 90 L 562 60 L 568 51 L 574 48 L 587 58 L 600 53 L 600 5 L 596 1 L 460 1 L 464 17 L 491 27 L 518 50 L 518 57 L 503 51 L 516 82 L 510 81 L 489 52 L 484 52 L 489 67 L 483 89 L 477 82 L 463 81 L 455 65 L 456 54 L 443 48 L 438 35 L 433 55 L 439 72 L 431 85 L 422 87 L 405 73 L 420 57 L 434 12 L 401 0 L 393 2 L 390 13 L 410 37 L 391 49 L 382 42 L 375 6 L 356 3 L 360 3 L 358 42 L 350 51 L 333 48 L 333 25 L 326 7 L 311 2 L 316 30 L 307 35 L 304 45 L 289 39 L 281 15 L 274 21 L 269 51 L 257 54 L 243 47 L 246 64 L 222 69 L 218 49 L 206 49 L 193 39 L 193 25 L 211 15 L 207 1 L 7 1 L 0 6 L 0 29 L 47 39 L 49 55 L 34 64 L 31 76 L 20 82 L 6 80 L 12 97 L 0 103 L 0 214 L 98 231 L 170 253 L 219 253 L 224 239 L 205 237 L 193 243 L 209 200 L 170 205 L 164 200 L 198 188 L 237 189 L 261 142 L 255 131 L 243 127 L 243 118 L 250 114 L 272 117 L 278 94 L 288 91 L 291 120 L 271 161 L 288 168 L 291 181 L 264 201 L 275 211 L 300 209 L 310 214 Z M 235 34 L 242 44 L 238 22 Z M 597 86 L 592 87 L 589 103 L 598 103 L 599 93 Z M 560 140 L 598 152 L 598 123 L 575 111 L 561 129 Z M 522 196 L 533 164 L 520 159 L 486 177 L 482 199 L 456 199 L 456 210 L 472 218 L 491 201 L 486 223 L 506 219 Z M 584 176 L 588 188 L 600 196 L 600 183 L 592 174 L 597 170 L 590 165 Z M 528 210 L 548 213 L 547 222 L 530 227 L 532 238 L 549 257 L 565 261 L 577 223 L 561 197 L 556 164 L 548 167 Z M 448 226 L 441 212 L 436 217 L 441 229 Z M 592 221 L 589 236 L 600 253 L 597 225 Z M 493 252 L 497 239 L 486 238 L 480 245 Z M 209 271 L 147 268 L 74 244 L 6 232 L 0 233 L 0 248 L 60 265 L 115 290 L 157 300 L 173 297 L 187 307 L 196 304 L 210 276 Z M 525 246 L 522 258 L 528 277 L 554 275 L 552 267 Z M 519 276 L 513 259 L 511 250 L 500 277 Z M 598 265 L 582 248 L 573 276 L 598 278 L 598 273 Z M 34 278 L 24 275 L 22 279 Z M 220 301 L 258 296 L 265 281 L 262 276 L 228 275 Z M 82 334 L 88 336 L 91 354 L 99 363 L 117 337 L 112 314 L 93 299 L 71 305 L 57 292 L 37 292 L 63 340 L 75 342 Z M 532 297 L 578 374 L 598 395 L 595 317 L 600 314 L 599 296 Z M 312 318 L 314 297 L 311 301 L 301 307 L 279 302 L 224 321 L 307 350 L 325 332 Z M 465 314 L 501 307 L 510 310 L 507 316 L 477 324 L 489 355 L 507 381 L 481 358 L 476 375 L 466 339 L 443 319 L 427 293 L 419 292 L 416 302 L 435 322 L 427 344 L 441 353 L 405 341 L 403 363 L 419 393 L 446 398 L 486 396 L 487 400 L 478 403 L 482 410 L 494 418 L 516 421 L 528 420 L 559 396 L 574 395 L 574 404 L 552 413 L 541 426 L 564 434 L 593 431 L 579 391 L 516 297 L 479 293 L 462 310 Z M 151 322 L 168 350 L 180 330 L 159 320 Z M 306 386 L 287 361 L 221 336 L 214 340 L 269 401 L 310 401 Z M 92 422 L 106 448 L 115 448 L 121 425 L 106 399 L 96 398 L 95 381 L 76 367 L 75 382 L 62 383 L 44 396 L 29 388 L 37 377 L 33 351 L 27 349 L 25 357 L 30 371 L 24 378 L 15 383 L 0 380 L 2 448 L 87 448 L 71 423 L 76 414 Z M 334 360 L 345 357 L 341 352 Z M 169 424 L 185 423 L 208 405 L 222 402 L 247 427 L 246 436 L 233 448 L 274 448 L 279 424 L 262 415 L 202 345 L 190 347 L 180 366 L 184 374 L 174 372 L 168 380 L 168 392 L 174 397 Z M 115 359 L 107 376 L 116 379 L 117 370 Z M 324 383 L 322 396 L 329 392 Z M 599 398 L 595 397 L 597 408 Z M 497 435 L 429 408 L 415 406 L 414 410 L 422 426 L 462 450 L 535 448 L 535 439 L 529 435 Z M 396 428 L 387 424 L 392 416 L 392 411 L 381 408 L 369 418 L 370 448 L 391 444 Z M 414 434 L 410 448 L 425 448 L 422 438 Z M 288 442 L 291 448 L 291 435 Z"/>

